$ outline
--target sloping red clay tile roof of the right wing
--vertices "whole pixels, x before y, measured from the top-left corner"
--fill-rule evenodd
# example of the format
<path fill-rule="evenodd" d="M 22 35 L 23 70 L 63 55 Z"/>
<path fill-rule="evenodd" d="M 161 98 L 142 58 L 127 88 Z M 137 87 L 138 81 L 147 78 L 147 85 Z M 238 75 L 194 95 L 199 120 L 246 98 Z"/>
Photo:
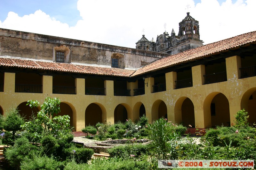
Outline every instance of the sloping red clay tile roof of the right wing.
<path fill-rule="evenodd" d="M 133 75 L 137 76 L 150 71 L 160 70 L 166 67 L 177 65 L 187 61 L 194 61 L 203 57 L 209 57 L 211 55 L 219 54 L 221 52 L 228 51 L 229 49 L 236 49 L 246 44 L 256 42 L 256 31 L 238 35 L 232 38 L 228 38 L 222 41 L 214 42 L 204 46 L 200 46 L 194 49 L 184 51 L 175 55 L 171 55 L 156 62 L 150 63 L 140 69 L 138 69 Z"/>

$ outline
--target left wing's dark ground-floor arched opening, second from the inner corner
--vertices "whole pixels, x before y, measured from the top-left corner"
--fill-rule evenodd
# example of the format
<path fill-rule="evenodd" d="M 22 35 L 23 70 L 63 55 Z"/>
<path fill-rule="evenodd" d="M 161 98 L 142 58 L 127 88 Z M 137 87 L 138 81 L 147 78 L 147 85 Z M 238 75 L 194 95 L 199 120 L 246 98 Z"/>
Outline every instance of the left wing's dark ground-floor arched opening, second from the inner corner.
<path fill-rule="evenodd" d="M 101 107 L 96 103 L 91 103 L 85 110 L 85 126 L 96 125 L 98 122 L 102 123 L 103 112 Z"/>

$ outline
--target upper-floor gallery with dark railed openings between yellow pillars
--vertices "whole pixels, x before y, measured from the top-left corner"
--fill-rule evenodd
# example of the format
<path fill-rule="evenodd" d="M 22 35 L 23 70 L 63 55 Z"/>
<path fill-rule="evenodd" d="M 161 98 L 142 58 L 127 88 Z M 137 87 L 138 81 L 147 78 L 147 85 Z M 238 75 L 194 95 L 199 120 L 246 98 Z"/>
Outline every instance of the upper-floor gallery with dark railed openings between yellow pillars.
<path fill-rule="evenodd" d="M 83 95 L 139 96 L 253 76 L 256 76 L 256 54 L 211 57 L 210 60 L 198 61 L 198 65 L 188 63 L 152 74 L 115 78 L 60 72 L 45 73 L 1 66 L 0 92 L 5 92 L 5 88 L 13 86 L 12 92 L 15 93 L 45 93 L 48 89 L 48 93 L 52 94 L 76 95 L 82 92 Z M 109 86 L 107 82 L 112 83 Z"/>

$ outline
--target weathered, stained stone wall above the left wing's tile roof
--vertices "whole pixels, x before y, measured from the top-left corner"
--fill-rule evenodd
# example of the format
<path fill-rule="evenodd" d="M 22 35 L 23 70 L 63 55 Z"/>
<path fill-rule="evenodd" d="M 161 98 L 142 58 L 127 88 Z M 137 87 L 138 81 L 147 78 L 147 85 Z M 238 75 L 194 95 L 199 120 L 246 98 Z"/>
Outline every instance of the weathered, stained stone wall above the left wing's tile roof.
<path fill-rule="evenodd" d="M 139 68 L 168 54 L 138 50 L 88 41 L 73 40 L 0 28 L 0 55 L 53 61 L 53 48 L 66 46 L 71 50 L 72 63 L 86 63 L 111 67 L 111 56 L 124 56 L 122 68 Z"/>

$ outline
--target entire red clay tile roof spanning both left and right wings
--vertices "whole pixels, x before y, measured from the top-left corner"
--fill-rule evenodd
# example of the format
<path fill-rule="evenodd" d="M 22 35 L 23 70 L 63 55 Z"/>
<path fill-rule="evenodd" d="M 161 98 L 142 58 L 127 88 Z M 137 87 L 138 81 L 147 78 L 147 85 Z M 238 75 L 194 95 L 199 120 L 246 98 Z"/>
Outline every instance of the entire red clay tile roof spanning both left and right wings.
<path fill-rule="evenodd" d="M 144 67 L 141 67 L 137 71 L 128 70 L 128 69 L 118 69 L 118 68 L 85 66 L 85 65 L 78 65 L 78 64 L 68 64 L 68 63 L 55 63 L 55 62 L 46 62 L 46 61 L 40 61 L 40 60 L 29 60 L 29 59 L 1 57 L 1 56 L 0 56 L 0 66 L 30 68 L 30 69 L 39 69 L 39 70 L 51 70 L 51 71 L 79 73 L 79 74 L 134 77 L 137 75 L 141 75 L 143 73 L 160 70 L 160 69 L 177 65 L 180 63 L 184 63 L 187 61 L 194 61 L 196 59 L 201 59 L 203 57 L 216 55 L 221 52 L 225 52 L 230 49 L 236 49 L 251 43 L 254 43 L 254 44 L 256 43 L 256 31 L 238 35 L 229 39 L 214 42 L 211 44 L 207 44 L 204 46 L 200 46 L 194 49 L 184 51 L 182 53 L 178 53 L 175 55 L 162 58 Z"/>

